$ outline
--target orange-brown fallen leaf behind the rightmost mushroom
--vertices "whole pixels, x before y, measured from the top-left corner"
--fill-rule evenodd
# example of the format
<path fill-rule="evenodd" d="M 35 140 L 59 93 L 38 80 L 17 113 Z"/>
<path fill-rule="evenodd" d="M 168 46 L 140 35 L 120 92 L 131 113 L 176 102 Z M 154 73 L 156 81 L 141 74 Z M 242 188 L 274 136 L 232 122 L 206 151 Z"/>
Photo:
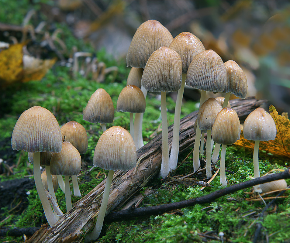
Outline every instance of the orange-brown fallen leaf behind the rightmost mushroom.
<path fill-rule="evenodd" d="M 265 150 L 276 157 L 289 158 L 289 120 L 285 116 L 279 115 L 273 105 L 270 105 L 269 111 L 275 121 L 277 135 L 275 140 L 260 141 L 259 150 Z M 255 141 L 245 139 L 243 131 L 241 131 L 240 139 L 234 144 L 254 149 Z"/>

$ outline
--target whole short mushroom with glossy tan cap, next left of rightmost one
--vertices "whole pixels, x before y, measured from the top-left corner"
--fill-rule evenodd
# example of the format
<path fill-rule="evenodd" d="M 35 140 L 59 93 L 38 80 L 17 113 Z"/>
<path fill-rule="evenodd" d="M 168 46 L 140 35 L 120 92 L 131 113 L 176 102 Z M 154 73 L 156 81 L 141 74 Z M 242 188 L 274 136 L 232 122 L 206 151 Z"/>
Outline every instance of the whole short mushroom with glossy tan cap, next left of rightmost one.
<path fill-rule="evenodd" d="M 222 144 L 220 156 L 220 184 L 225 187 L 226 182 L 226 145 L 231 145 L 240 139 L 241 125 L 238 114 L 230 107 L 223 108 L 217 115 L 212 126 L 212 139 Z"/>

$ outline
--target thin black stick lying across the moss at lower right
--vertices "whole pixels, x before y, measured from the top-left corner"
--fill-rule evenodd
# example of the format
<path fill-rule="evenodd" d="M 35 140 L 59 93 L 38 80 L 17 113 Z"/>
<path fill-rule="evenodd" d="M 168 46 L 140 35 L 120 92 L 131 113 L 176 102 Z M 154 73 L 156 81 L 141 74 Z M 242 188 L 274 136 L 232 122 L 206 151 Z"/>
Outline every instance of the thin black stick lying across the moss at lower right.
<path fill-rule="evenodd" d="M 286 169 L 284 172 L 281 172 L 281 173 L 275 173 L 268 176 L 261 176 L 253 180 L 248 180 L 242 183 L 234 184 L 233 186 L 223 188 L 221 190 L 215 191 L 213 193 L 210 193 L 202 197 L 196 197 L 193 199 L 188 199 L 188 200 L 184 200 L 184 201 L 180 201 L 176 203 L 162 204 L 162 205 L 157 205 L 153 207 L 143 207 L 143 208 L 136 208 L 136 209 L 129 208 L 125 210 L 120 210 L 118 212 L 108 214 L 105 218 L 105 222 L 109 223 L 112 221 L 120 221 L 123 219 L 132 218 L 132 217 L 159 215 L 159 214 L 163 214 L 165 212 L 168 212 L 174 209 L 180 209 L 183 207 L 191 207 L 195 204 L 211 203 L 212 201 L 214 201 L 215 199 L 219 197 L 223 197 L 227 194 L 234 193 L 238 190 L 242 190 L 248 187 L 253 187 L 255 185 L 263 184 L 263 183 L 273 181 L 273 180 L 280 180 L 280 179 L 287 179 L 287 178 L 289 178 L 289 169 Z"/>

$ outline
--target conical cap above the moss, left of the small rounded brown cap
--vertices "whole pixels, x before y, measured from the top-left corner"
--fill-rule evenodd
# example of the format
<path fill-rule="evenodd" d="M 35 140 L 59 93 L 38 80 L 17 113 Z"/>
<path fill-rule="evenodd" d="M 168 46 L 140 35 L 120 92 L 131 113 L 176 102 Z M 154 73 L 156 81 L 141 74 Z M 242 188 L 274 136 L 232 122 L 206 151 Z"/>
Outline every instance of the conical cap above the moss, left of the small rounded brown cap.
<path fill-rule="evenodd" d="M 112 123 L 114 105 L 111 96 L 104 89 L 97 89 L 88 101 L 83 120 L 92 123 Z"/>

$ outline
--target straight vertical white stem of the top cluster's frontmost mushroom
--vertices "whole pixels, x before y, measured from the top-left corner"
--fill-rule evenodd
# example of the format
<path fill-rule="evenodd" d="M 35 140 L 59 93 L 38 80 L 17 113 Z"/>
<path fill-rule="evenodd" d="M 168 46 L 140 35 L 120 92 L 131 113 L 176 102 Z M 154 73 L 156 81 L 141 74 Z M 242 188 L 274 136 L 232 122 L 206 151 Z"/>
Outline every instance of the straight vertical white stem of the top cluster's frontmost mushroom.
<path fill-rule="evenodd" d="M 161 123 L 162 123 L 162 161 L 160 176 L 165 178 L 169 174 L 168 128 L 166 111 L 166 92 L 161 91 Z"/>

